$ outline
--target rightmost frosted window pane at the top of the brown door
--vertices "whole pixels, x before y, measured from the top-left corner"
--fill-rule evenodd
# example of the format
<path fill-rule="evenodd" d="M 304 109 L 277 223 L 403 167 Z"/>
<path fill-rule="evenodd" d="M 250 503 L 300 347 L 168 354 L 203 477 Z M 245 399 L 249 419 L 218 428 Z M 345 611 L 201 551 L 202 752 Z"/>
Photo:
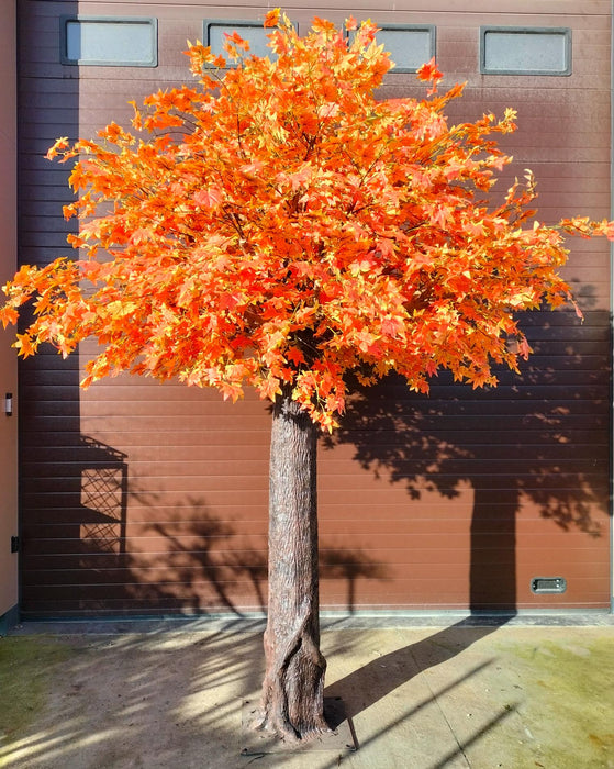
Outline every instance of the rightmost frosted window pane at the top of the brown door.
<path fill-rule="evenodd" d="M 569 75 L 568 30 L 485 30 L 482 71 L 490 74 Z"/>

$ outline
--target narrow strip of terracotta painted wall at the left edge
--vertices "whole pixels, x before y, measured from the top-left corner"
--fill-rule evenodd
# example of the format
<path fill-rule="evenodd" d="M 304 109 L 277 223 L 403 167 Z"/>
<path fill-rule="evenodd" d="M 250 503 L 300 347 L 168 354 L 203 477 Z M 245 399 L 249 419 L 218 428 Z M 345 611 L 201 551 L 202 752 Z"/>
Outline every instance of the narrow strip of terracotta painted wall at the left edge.
<path fill-rule="evenodd" d="M 16 65 L 15 2 L 0 3 L 0 281 L 16 264 Z M 0 616 L 18 601 L 16 416 L 4 414 L 4 394 L 16 395 L 16 360 L 8 333 L 0 332 Z"/>

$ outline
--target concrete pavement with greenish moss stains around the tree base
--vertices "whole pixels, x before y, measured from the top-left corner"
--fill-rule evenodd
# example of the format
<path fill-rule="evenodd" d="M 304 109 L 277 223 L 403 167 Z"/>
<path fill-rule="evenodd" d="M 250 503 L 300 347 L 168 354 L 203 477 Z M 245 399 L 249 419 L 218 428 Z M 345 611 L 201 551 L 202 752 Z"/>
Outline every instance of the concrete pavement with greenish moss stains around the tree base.
<path fill-rule="evenodd" d="M 325 623 L 343 734 L 306 751 L 244 750 L 260 622 L 30 623 L 0 638 L 0 767 L 614 769 L 611 617 L 439 622 Z"/>

